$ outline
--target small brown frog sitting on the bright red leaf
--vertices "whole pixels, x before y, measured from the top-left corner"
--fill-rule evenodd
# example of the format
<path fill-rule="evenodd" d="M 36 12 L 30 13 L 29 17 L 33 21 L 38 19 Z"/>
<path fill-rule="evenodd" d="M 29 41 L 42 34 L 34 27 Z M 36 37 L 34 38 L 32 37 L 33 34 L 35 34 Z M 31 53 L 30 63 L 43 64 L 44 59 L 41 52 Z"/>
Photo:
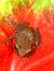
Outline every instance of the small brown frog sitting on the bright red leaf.
<path fill-rule="evenodd" d="M 9 42 L 15 38 L 15 48 L 21 57 L 31 52 L 36 45 L 40 46 L 41 36 L 38 27 L 33 29 L 28 22 L 14 23 L 14 25 L 16 25 L 15 35 L 10 36 Z"/>

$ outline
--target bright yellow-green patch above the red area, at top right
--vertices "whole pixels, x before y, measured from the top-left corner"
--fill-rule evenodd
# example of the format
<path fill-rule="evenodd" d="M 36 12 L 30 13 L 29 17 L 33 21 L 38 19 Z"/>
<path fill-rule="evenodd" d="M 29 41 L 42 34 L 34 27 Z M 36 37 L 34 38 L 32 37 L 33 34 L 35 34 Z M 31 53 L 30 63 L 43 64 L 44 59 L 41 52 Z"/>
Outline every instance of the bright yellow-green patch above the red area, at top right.
<path fill-rule="evenodd" d="M 46 7 L 50 7 L 51 9 L 53 8 L 54 10 L 54 7 L 52 7 L 53 4 L 54 4 L 54 0 L 36 0 L 32 5 L 32 9 L 33 11 L 38 11 L 38 10 L 43 10 Z"/>

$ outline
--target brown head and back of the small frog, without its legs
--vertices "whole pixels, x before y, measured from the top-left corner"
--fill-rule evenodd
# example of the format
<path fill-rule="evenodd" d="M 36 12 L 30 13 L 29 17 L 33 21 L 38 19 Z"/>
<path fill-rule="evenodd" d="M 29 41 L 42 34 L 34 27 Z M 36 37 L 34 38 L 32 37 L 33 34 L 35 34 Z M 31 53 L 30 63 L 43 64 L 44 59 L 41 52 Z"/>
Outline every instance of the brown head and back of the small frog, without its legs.
<path fill-rule="evenodd" d="M 36 43 L 35 31 L 31 27 L 19 29 L 16 38 L 16 45 L 18 46 L 18 52 L 21 56 L 25 56 L 31 51 Z"/>

